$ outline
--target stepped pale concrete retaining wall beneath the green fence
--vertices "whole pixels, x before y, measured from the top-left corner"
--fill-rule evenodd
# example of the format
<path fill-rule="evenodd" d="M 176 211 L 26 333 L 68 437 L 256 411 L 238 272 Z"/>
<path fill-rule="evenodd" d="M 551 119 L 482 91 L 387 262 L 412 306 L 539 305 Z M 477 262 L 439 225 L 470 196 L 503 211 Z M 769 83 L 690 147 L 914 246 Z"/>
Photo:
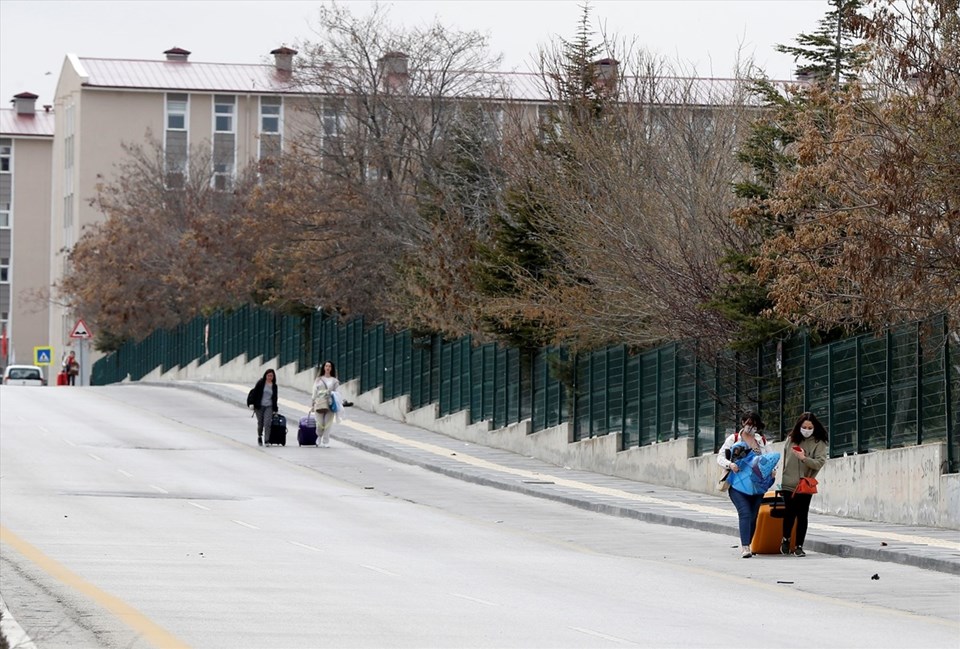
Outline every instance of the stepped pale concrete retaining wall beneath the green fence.
<path fill-rule="evenodd" d="M 310 392 L 315 370 L 296 372 L 295 365 L 278 368 L 277 359 L 248 360 L 245 356 L 221 365 L 216 356 L 144 380 L 202 380 L 253 385 L 267 368 L 274 368 L 281 386 Z M 717 493 L 720 467 L 715 454 L 693 457 L 693 439 L 681 438 L 619 450 L 620 433 L 573 441 L 572 425 L 561 424 L 530 432 L 523 421 L 499 430 L 490 422 L 470 424 L 467 412 L 438 416 L 437 404 L 410 410 L 410 398 L 382 401 L 380 388 L 358 394 L 359 381 L 341 386 L 344 397 L 369 412 L 441 433 L 454 439 L 535 457 L 556 466 L 631 480 L 650 482 L 700 493 Z M 820 493 L 813 499 L 816 512 L 861 520 L 923 525 L 960 530 L 960 474 L 945 474 L 944 443 L 875 451 L 832 458 L 820 472 Z"/>

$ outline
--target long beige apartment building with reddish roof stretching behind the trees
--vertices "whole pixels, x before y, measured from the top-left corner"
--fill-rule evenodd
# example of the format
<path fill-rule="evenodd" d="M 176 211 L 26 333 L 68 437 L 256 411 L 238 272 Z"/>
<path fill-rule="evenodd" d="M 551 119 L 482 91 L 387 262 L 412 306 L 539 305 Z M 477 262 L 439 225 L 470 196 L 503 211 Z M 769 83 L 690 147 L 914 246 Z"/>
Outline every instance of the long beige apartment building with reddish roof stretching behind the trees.
<path fill-rule="evenodd" d="M 156 60 L 66 56 L 52 113 L 47 283 L 64 276 L 67 258 L 63 251 L 73 247 L 84 226 L 103 219 L 92 199 L 98 183 L 109 181 L 125 159 L 125 144 L 145 144 L 148 137 L 157 141 L 164 151 L 168 182 L 175 182 L 178 173 L 190 169 L 193 147 L 209 146 L 212 183 L 228 189 L 244 165 L 276 156 L 297 134 L 312 130 L 321 136 L 337 136 L 349 128 L 342 110 L 350 106 L 349 88 L 304 85 L 293 66 L 296 51 L 280 47 L 270 54 L 273 61 L 265 64 L 196 62 L 191 60 L 191 52 L 179 47 Z M 595 65 L 599 82 L 616 93 L 618 63 L 603 59 Z M 408 70 L 407 56 L 401 52 L 385 53 L 379 66 L 377 83 L 383 93 L 412 98 L 409 105 L 416 105 L 414 112 L 446 105 L 444 110 L 455 114 L 467 106 L 480 106 L 484 123 L 497 131 L 492 137 L 504 137 L 511 125 L 542 123 L 555 110 L 555 96 L 545 87 L 549 81 L 543 75 L 477 73 L 488 78 L 463 86 L 483 87 L 483 92 L 444 97 L 438 102 L 438 96 L 424 85 L 424 79 L 436 76 L 434 71 Z M 710 105 L 714 91 L 724 85 L 718 84 L 720 81 L 725 84 L 729 80 L 661 79 L 656 93 L 645 91 L 642 97 L 624 101 L 676 106 L 697 96 L 694 103 Z M 688 86 L 696 90 L 685 90 Z M 664 92 L 664 88 L 679 90 Z M 454 99 L 452 111 L 447 99 Z M 435 115 L 427 114 L 426 120 L 432 117 Z M 357 148 L 354 146 L 354 155 Z M 362 156 L 363 145 L 359 148 Z M 382 175 L 375 161 L 361 166 L 374 182 Z M 56 304 L 49 307 L 47 344 L 58 354 L 76 345 L 70 338 L 76 316 Z M 85 360 L 84 374 L 96 355 Z"/>

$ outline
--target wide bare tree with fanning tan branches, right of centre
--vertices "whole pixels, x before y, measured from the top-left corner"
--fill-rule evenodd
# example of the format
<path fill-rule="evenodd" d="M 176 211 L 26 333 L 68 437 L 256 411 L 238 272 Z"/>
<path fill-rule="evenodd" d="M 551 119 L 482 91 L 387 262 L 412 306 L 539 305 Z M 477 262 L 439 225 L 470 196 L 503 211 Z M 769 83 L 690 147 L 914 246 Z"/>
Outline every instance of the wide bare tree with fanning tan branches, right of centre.
<path fill-rule="evenodd" d="M 724 342 L 730 323 L 704 305 L 720 258 L 742 245 L 728 214 L 753 110 L 746 84 L 685 76 L 629 43 L 594 51 L 582 35 L 540 64 L 554 110 L 508 168 L 555 263 L 546 274 L 517 264 L 519 290 L 488 312 L 541 320 L 554 342 L 581 347 Z"/>

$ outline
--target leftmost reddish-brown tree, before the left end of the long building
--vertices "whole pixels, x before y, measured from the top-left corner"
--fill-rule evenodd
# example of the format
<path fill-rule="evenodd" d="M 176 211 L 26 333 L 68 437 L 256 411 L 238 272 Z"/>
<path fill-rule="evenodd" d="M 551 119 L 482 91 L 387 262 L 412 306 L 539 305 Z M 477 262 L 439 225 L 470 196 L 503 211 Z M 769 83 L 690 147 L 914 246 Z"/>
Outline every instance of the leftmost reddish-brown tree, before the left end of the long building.
<path fill-rule="evenodd" d="M 140 338 L 201 310 L 247 301 L 241 260 L 255 242 L 242 236 L 244 195 L 213 189 L 210 148 L 195 147 L 174 179 L 162 146 L 125 144 L 127 158 L 102 178 L 91 201 L 105 220 L 85 228 L 67 253 L 59 299 L 106 338 Z"/>

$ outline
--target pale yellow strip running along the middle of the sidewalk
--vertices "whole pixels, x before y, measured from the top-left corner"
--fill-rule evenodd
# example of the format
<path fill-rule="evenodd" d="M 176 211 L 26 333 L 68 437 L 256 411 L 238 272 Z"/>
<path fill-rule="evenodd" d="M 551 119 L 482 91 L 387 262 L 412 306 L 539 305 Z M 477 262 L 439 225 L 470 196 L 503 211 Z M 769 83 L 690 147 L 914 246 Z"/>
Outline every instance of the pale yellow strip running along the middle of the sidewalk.
<path fill-rule="evenodd" d="M 236 385 L 232 383 L 221 383 L 219 385 L 225 387 L 231 387 L 237 390 L 244 391 L 245 388 L 242 385 Z M 295 410 L 304 410 L 305 406 L 303 404 L 297 403 L 295 401 L 290 401 L 288 399 L 280 399 L 285 406 Z M 353 421 L 343 421 L 341 422 L 342 426 L 347 426 L 348 428 L 353 428 L 356 431 L 372 435 L 374 437 L 379 437 L 384 441 L 393 442 L 395 444 L 402 444 L 409 446 L 411 448 L 417 448 L 421 451 L 427 453 L 432 453 L 446 459 L 452 459 L 456 462 L 462 464 L 469 464 L 481 469 L 488 469 L 491 471 L 499 471 L 500 473 L 508 473 L 511 475 L 516 475 L 521 478 L 528 478 L 534 480 L 550 480 L 554 484 L 569 487 L 571 489 L 579 489 L 582 491 L 589 491 L 595 494 L 603 496 L 612 496 L 615 498 L 625 498 L 627 500 L 633 500 L 635 502 L 642 502 L 649 505 L 662 505 L 665 507 L 676 507 L 678 509 L 684 509 L 687 511 L 693 511 L 700 514 L 711 514 L 713 516 L 726 516 L 733 517 L 736 516 L 736 512 L 729 509 L 721 509 L 719 507 L 713 507 L 710 505 L 698 505 L 696 503 L 684 503 L 676 502 L 672 500 L 664 500 L 663 498 L 654 498 L 652 496 L 644 496 L 641 494 L 630 493 L 629 491 L 623 491 L 622 489 L 612 489 L 610 487 L 600 487 L 597 485 L 588 484 L 585 482 L 579 482 L 577 480 L 568 480 L 566 478 L 561 478 L 559 476 L 554 476 L 548 473 L 538 473 L 535 471 L 527 471 L 525 469 L 514 469 L 512 467 L 503 466 L 501 464 L 495 464 L 493 462 L 488 462 L 471 455 L 467 455 L 461 452 L 457 452 L 456 456 L 450 455 L 451 451 L 448 448 L 442 446 L 436 446 L 434 444 L 427 444 L 425 442 L 418 442 L 417 440 L 407 439 L 406 437 L 401 437 L 400 435 L 395 435 L 393 433 L 388 433 L 387 431 L 380 430 L 379 428 L 374 428 L 373 426 L 367 426 L 365 424 L 360 424 Z M 840 527 L 837 525 L 825 525 L 822 523 L 811 523 L 811 530 L 820 530 L 822 532 L 835 532 L 840 534 L 845 534 L 849 536 L 862 536 L 875 539 L 883 539 L 887 541 L 899 541 L 901 543 L 912 543 L 914 545 L 929 545 L 937 548 L 944 548 L 946 550 L 957 550 L 960 551 L 960 543 L 955 543 L 953 541 L 948 541 L 946 539 L 937 539 L 929 536 L 913 536 L 910 534 L 899 534 L 897 532 L 886 532 L 886 531 L 877 531 L 877 530 L 864 530 L 852 527 Z"/>

